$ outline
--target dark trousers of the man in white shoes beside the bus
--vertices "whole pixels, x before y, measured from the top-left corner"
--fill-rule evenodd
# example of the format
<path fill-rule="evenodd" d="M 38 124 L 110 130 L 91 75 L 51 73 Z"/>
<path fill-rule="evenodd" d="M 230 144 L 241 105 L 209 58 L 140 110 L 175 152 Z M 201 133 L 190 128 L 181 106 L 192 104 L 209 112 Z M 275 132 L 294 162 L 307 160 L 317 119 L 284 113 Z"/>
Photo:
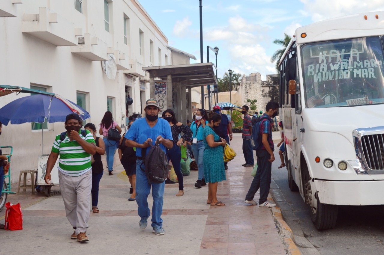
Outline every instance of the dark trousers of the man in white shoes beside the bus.
<path fill-rule="evenodd" d="M 268 197 L 269 188 L 271 186 L 272 163 L 268 161 L 271 159 L 271 155 L 269 155 L 266 150 L 257 150 L 256 156 L 257 172 L 252 180 L 247 196 L 245 196 L 245 200 L 253 200 L 253 197 L 255 197 L 256 192 L 260 188 L 259 204 L 263 204 Z"/>

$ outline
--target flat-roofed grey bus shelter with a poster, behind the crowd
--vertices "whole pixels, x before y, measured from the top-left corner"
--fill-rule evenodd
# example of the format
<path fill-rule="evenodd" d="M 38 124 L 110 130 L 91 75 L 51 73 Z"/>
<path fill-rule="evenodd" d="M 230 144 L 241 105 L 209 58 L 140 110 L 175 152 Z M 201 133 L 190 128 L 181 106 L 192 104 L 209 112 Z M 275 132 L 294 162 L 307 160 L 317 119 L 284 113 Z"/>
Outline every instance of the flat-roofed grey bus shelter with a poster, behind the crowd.
<path fill-rule="evenodd" d="M 174 110 L 177 119 L 184 124 L 187 119 L 192 119 L 191 88 L 217 84 L 212 63 L 151 66 L 142 69 L 149 72 L 151 98 L 159 100 L 161 110 Z"/>

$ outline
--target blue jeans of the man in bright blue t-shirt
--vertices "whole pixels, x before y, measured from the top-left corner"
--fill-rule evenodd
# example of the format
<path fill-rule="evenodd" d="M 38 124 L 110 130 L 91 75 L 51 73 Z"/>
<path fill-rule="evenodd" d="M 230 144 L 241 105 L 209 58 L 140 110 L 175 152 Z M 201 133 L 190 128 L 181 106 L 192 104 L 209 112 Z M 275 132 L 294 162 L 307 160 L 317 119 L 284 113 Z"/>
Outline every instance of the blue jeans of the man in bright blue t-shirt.
<path fill-rule="evenodd" d="M 157 184 L 151 183 L 148 184 L 148 179 L 146 173 L 140 168 L 142 160 L 136 160 L 136 203 L 139 208 L 137 213 L 141 219 L 149 218 L 150 211 L 148 206 L 148 196 L 151 192 L 152 186 L 152 227 L 162 227 L 163 220 L 161 219 L 161 214 L 163 213 L 163 196 L 164 196 L 164 187 L 165 182 Z M 144 165 L 143 165 L 144 167 Z"/>

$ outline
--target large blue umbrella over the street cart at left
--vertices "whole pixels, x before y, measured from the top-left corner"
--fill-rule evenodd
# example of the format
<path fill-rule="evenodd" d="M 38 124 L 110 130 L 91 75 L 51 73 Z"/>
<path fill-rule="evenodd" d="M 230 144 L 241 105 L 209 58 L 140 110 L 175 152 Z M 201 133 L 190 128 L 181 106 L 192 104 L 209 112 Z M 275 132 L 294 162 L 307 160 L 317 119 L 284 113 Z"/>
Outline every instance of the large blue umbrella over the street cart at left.
<path fill-rule="evenodd" d="M 73 102 L 55 95 L 30 95 L 13 100 L 0 109 L 0 121 L 4 125 L 26 122 L 49 123 L 65 122 L 68 114 L 77 113 L 86 120 L 89 113 Z"/>

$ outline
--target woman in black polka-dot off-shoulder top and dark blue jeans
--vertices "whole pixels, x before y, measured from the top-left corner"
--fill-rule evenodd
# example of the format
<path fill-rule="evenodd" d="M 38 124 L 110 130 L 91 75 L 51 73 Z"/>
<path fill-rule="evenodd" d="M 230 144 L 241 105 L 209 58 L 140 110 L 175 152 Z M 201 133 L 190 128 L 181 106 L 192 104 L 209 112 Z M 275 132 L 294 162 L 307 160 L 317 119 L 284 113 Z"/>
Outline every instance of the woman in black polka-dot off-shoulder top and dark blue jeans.
<path fill-rule="evenodd" d="M 179 181 L 179 192 L 176 196 L 184 195 L 184 186 L 183 186 L 183 174 L 181 173 L 181 149 L 180 145 L 187 146 L 187 141 L 191 140 L 192 130 L 183 125 L 181 122 L 177 122 L 175 112 L 171 109 L 165 110 L 163 112 L 163 118 L 169 122 L 170 130 L 172 132 L 173 138 L 173 147 L 171 149 L 167 148 L 167 158 L 172 162 L 173 168 L 177 175 L 177 180 Z M 183 132 L 184 135 L 179 139 L 179 134 Z"/>

